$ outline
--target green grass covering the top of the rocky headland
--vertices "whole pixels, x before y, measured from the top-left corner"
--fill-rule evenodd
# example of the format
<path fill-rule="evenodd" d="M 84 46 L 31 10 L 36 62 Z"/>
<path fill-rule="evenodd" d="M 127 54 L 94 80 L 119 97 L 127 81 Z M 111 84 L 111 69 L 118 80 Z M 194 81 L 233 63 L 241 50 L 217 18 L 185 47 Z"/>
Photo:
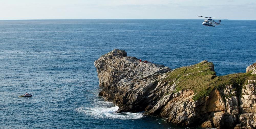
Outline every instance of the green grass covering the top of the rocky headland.
<path fill-rule="evenodd" d="M 176 83 L 174 93 L 186 89 L 193 90 L 193 100 L 207 97 L 212 90 L 221 90 L 226 84 L 237 87 L 237 95 L 241 95 L 241 89 L 249 79 L 256 80 L 256 76 L 251 75 L 251 72 L 216 76 L 213 63 L 207 61 L 174 69 L 166 77 L 170 85 Z"/>

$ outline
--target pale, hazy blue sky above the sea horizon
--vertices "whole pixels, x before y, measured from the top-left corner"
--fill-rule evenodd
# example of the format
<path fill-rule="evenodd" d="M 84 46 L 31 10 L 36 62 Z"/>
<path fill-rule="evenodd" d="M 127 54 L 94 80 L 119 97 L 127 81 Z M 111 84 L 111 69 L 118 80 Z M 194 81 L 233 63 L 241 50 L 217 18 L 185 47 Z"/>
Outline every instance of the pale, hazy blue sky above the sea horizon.
<path fill-rule="evenodd" d="M 0 0 L 9 19 L 221 19 L 256 20 L 255 0 Z"/>

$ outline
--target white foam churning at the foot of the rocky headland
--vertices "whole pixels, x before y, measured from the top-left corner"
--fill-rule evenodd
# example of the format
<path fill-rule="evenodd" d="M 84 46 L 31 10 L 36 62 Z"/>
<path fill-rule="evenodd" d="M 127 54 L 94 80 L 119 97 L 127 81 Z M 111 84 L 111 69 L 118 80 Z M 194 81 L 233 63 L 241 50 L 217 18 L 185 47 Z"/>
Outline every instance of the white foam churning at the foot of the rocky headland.
<path fill-rule="evenodd" d="M 101 108 L 101 107 L 95 107 L 95 108 L 84 108 L 80 107 L 77 108 L 76 111 L 83 112 L 86 115 L 90 115 L 93 118 L 105 118 L 105 119 L 122 119 L 122 120 L 128 120 L 128 119 L 140 119 L 143 117 L 142 113 L 131 113 L 131 112 L 125 112 L 125 113 L 115 113 L 119 108 L 117 106 L 110 107 L 110 108 Z"/>

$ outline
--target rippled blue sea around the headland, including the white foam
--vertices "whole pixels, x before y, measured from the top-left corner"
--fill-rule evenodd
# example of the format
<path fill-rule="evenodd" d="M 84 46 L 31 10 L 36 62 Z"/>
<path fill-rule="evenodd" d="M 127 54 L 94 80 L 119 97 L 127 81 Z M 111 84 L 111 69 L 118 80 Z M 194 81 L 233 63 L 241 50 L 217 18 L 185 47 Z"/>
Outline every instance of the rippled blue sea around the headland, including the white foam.
<path fill-rule="evenodd" d="M 208 60 L 217 75 L 256 62 L 256 20 L 203 20 L 0 20 L 0 128 L 186 128 L 115 113 L 94 61 L 117 48 L 172 69 Z"/>

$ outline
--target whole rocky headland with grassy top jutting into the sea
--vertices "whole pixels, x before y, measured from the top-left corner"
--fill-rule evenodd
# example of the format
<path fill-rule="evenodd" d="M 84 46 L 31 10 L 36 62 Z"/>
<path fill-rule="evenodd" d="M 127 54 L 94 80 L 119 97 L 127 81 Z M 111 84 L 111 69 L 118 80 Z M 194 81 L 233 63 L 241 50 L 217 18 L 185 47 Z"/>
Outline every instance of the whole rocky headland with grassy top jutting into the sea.
<path fill-rule="evenodd" d="M 171 70 L 143 63 L 113 51 L 94 62 L 100 95 L 118 105 L 118 112 L 145 111 L 183 126 L 256 127 L 256 75 L 216 76 L 208 61 Z"/>

